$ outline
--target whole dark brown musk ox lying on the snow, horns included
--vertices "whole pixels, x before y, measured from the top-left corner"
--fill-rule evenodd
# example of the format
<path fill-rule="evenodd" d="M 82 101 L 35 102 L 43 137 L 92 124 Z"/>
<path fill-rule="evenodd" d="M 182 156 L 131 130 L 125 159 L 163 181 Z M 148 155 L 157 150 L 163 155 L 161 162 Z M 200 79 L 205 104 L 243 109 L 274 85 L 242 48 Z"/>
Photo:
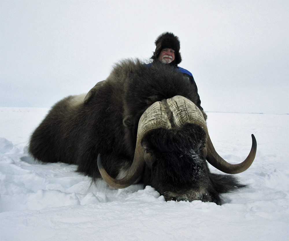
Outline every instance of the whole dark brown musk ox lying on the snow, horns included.
<path fill-rule="evenodd" d="M 56 103 L 30 139 L 29 153 L 42 162 L 65 162 L 112 188 L 136 182 L 168 200 L 221 204 L 220 193 L 244 187 L 232 175 L 253 162 L 229 164 L 215 151 L 196 90 L 164 64 L 125 60 L 89 93 Z"/>

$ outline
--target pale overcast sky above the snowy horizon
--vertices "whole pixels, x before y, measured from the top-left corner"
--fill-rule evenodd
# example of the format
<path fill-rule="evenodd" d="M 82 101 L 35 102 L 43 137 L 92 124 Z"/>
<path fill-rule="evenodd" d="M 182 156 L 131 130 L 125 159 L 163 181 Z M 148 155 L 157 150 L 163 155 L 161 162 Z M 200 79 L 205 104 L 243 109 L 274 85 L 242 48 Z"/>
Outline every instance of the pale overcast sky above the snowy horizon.
<path fill-rule="evenodd" d="M 0 1 L 2 107 L 51 107 L 181 41 L 205 111 L 289 113 L 289 1 Z"/>

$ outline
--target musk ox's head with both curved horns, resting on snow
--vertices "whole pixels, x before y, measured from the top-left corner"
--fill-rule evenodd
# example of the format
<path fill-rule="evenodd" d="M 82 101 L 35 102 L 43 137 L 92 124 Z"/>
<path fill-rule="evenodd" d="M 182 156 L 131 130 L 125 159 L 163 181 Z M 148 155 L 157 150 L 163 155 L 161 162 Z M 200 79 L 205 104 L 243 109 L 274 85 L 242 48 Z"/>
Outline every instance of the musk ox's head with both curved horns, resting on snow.
<path fill-rule="evenodd" d="M 183 96 L 155 102 L 138 124 L 134 161 L 121 180 L 111 178 L 98 157 L 101 176 L 114 188 L 125 188 L 142 176 L 168 200 L 221 203 L 219 193 L 243 187 L 231 175 L 210 173 L 206 159 L 217 169 L 236 174 L 252 164 L 257 143 L 252 135 L 249 156 L 232 165 L 221 158 L 210 140 L 202 112 Z"/>

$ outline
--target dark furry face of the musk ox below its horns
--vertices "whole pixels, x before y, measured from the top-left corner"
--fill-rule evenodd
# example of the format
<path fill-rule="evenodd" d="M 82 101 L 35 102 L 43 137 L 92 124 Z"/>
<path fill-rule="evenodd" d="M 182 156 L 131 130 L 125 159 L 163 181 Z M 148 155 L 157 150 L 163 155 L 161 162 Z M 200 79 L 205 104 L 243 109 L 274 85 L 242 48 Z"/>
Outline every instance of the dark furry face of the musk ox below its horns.
<path fill-rule="evenodd" d="M 146 133 L 142 139 L 144 185 L 155 187 L 166 201 L 202 200 L 200 186 L 206 185 L 209 174 L 205 137 L 205 131 L 194 124 Z"/>

